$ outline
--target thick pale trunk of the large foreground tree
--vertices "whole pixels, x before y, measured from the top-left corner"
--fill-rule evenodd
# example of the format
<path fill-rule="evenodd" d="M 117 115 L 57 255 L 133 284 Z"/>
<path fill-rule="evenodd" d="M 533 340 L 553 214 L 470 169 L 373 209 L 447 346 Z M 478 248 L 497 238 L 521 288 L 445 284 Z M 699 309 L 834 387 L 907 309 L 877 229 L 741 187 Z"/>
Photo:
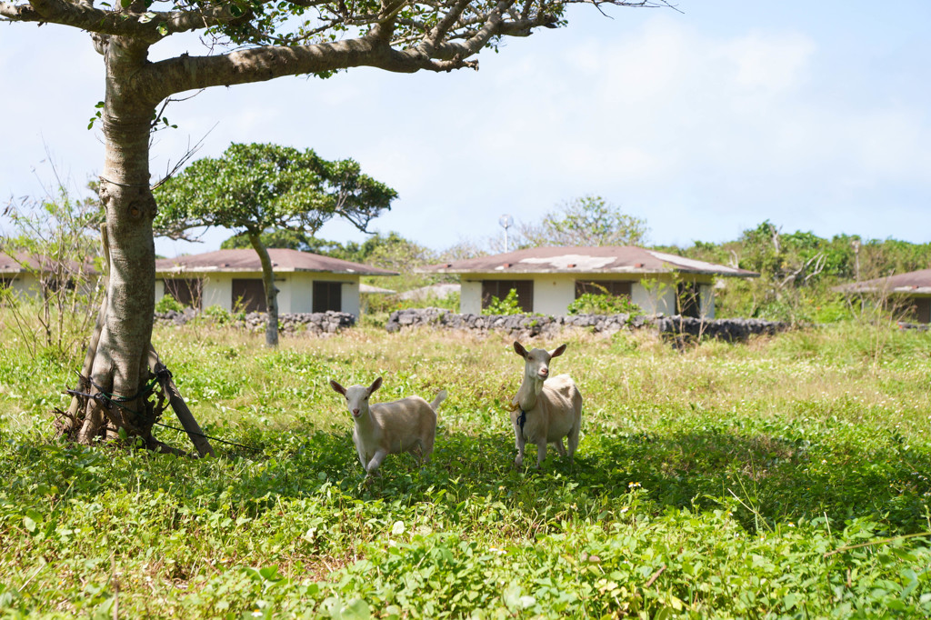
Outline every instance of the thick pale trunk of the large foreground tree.
<path fill-rule="evenodd" d="M 149 188 L 149 138 L 155 103 L 134 93 L 132 76 L 147 64 L 147 47 L 111 37 L 104 55 L 106 98 L 101 113 L 105 161 L 100 179 L 106 211 L 110 277 L 100 337 L 88 350 L 90 393 L 77 439 L 115 438 L 123 427 L 153 446 L 151 407 L 143 386 L 155 312 L 155 199 Z M 142 102 L 141 102 L 142 101 Z"/>

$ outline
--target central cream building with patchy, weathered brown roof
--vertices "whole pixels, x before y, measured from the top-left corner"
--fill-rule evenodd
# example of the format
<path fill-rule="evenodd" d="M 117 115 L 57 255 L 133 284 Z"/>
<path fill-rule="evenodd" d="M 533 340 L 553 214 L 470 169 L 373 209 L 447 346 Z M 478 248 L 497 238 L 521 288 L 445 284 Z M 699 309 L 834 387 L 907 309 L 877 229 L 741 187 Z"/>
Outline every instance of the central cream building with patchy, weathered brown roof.
<path fill-rule="evenodd" d="M 759 274 L 631 246 L 531 248 L 426 267 L 459 274 L 460 312 L 479 314 L 514 289 L 525 312 L 564 315 L 585 292 L 627 295 L 648 314 L 714 317 L 716 277 Z"/>

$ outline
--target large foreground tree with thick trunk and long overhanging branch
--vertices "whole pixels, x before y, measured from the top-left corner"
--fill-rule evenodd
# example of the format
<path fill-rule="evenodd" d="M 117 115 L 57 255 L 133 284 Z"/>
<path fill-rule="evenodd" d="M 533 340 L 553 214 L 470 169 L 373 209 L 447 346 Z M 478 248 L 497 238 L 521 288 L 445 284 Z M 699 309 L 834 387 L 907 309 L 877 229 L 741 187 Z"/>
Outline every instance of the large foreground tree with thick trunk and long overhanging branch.
<path fill-rule="evenodd" d="M 143 389 L 152 371 L 155 308 L 156 205 L 149 144 L 155 126 L 165 122 L 161 113 L 172 95 L 287 75 L 325 77 L 360 66 L 396 73 L 476 68 L 473 57 L 481 49 L 497 49 L 505 36 L 527 36 L 540 26 L 562 26 L 567 6 L 589 2 L 166 0 L 158 6 L 167 10 L 155 11 L 150 10 L 153 0 L 99 7 L 93 0 L 0 0 L 0 20 L 86 31 L 103 57 L 105 155 L 99 195 L 106 210 L 110 266 L 100 336 L 91 339 L 96 344 L 88 350 L 88 371 L 82 373 L 87 378 L 82 385 L 103 398 L 79 403 L 65 429 L 69 435 L 76 428 L 74 437 L 90 443 L 115 438 L 123 429 L 150 447 L 161 447 L 152 438 L 154 420 L 144 414 L 151 407 Z M 666 0 L 596 4 L 667 6 Z M 151 47 L 185 33 L 199 34 L 208 43 L 205 55 L 184 51 L 149 60 Z"/>

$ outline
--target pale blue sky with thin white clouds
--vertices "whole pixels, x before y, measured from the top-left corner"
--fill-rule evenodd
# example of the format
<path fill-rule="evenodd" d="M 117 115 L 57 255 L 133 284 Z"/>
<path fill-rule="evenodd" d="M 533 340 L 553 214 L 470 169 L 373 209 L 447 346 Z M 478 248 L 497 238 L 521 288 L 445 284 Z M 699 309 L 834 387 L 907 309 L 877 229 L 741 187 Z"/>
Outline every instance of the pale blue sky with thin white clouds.
<path fill-rule="evenodd" d="M 398 191 L 372 231 L 431 249 L 500 236 L 582 195 L 642 218 L 656 245 L 784 232 L 931 241 L 931 2 L 679 0 L 668 8 L 573 7 L 569 25 L 512 38 L 479 71 L 212 88 L 172 103 L 153 181 L 196 142 L 313 148 L 352 157 Z M 159 60 L 204 54 L 196 39 Z M 0 200 L 41 196 L 58 174 L 100 173 L 101 57 L 87 34 L 0 23 Z M 9 230 L 0 222 L 0 230 Z M 218 249 L 156 239 L 173 257 Z M 360 241 L 331 222 L 318 236 Z"/>

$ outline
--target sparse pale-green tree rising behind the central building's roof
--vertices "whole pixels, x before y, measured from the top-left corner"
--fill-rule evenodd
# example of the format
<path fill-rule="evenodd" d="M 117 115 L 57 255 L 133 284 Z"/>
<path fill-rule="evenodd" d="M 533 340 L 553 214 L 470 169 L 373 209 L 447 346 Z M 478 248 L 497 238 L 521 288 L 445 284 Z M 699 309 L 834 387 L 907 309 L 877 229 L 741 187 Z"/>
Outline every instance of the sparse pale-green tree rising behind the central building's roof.
<path fill-rule="evenodd" d="M 586 195 L 546 213 L 538 224 L 520 227 L 520 245 L 639 246 L 646 241 L 646 221 L 622 212 L 598 195 Z"/>

